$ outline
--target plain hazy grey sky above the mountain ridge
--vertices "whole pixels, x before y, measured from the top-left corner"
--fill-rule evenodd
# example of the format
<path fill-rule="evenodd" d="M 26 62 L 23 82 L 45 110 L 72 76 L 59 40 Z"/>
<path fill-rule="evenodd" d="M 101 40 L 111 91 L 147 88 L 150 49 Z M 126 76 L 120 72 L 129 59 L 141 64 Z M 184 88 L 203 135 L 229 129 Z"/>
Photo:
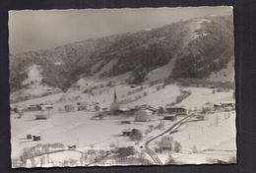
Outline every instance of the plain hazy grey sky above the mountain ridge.
<path fill-rule="evenodd" d="M 160 28 L 180 20 L 231 15 L 231 7 L 9 11 L 11 54 L 123 32 Z"/>

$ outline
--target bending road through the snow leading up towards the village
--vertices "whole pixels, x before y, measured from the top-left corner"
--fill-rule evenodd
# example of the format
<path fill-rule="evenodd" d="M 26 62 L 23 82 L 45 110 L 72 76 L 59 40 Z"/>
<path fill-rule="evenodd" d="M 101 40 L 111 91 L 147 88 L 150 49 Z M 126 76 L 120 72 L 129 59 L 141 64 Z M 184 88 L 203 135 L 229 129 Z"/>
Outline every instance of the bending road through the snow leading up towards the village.
<path fill-rule="evenodd" d="M 145 148 L 146 148 L 146 152 L 148 153 L 148 155 L 150 155 L 150 157 L 153 159 L 153 161 L 156 164 L 163 164 L 160 161 L 160 158 L 158 157 L 157 153 L 149 146 L 153 141 L 157 140 L 158 138 L 160 138 L 161 136 L 165 135 L 166 133 L 174 133 L 180 126 L 182 126 L 184 123 L 186 123 L 189 119 L 191 119 L 194 115 L 189 115 L 186 116 L 185 118 L 179 120 L 178 122 L 176 122 L 174 125 L 172 125 L 170 128 L 168 128 L 167 130 L 165 130 L 164 132 L 160 133 L 159 135 L 153 137 L 152 139 L 148 140 L 145 143 Z"/>

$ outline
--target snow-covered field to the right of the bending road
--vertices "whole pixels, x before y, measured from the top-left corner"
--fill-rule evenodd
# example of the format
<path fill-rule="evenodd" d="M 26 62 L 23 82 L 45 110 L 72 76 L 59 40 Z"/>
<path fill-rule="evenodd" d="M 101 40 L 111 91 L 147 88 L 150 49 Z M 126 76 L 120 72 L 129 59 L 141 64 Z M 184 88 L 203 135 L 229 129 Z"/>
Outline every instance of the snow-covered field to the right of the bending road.
<path fill-rule="evenodd" d="M 228 162 L 236 157 L 234 111 L 209 114 L 204 121 L 194 118 L 176 133 L 166 136 L 181 144 L 181 150 L 158 153 L 163 163 L 169 156 L 176 164 L 210 164 L 218 163 L 218 160 Z M 152 144 L 152 147 L 155 145 Z"/>

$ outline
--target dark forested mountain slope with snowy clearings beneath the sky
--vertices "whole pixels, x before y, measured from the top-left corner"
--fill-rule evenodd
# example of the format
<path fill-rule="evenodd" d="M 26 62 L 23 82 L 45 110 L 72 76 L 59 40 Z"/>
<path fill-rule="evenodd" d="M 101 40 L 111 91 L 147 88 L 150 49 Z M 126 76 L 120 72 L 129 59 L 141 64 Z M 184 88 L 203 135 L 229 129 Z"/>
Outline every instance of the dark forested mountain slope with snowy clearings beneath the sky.
<path fill-rule="evenodd" d="M 232 17 L 180 21 L 159 29 L 110 35 L 49 50 L 10 56 L 11 90 L 30 84 L 28 69 L 40 69 L 41 84 L 66 90 L 82 78 L 129 72 L 128 83 L 208 79 L 233 57 Z"/>

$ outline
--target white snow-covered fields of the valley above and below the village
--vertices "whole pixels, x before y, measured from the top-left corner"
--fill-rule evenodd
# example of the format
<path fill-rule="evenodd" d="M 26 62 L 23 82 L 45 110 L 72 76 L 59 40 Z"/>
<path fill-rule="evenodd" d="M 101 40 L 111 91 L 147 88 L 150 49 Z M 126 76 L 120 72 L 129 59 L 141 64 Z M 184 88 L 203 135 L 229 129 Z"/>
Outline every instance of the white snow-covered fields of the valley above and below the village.
<path fill-rule="evenodd" d="M 36 144 L 54 143 L 60 143 L 66 146 L 77 144 L 78 150 L 82 152 L 88 149 L 106 149 L 109 148 L 111 144 L 115 146 L 133 145 L 136 150 L 143 151 L 140 149 L 141 145 L 173 125 L 173 122 L 164 120 L 164 127 L 162 129 L 154 128 L 160 124 L 160 119 L 162 119 L 162 117 L 157 115 L 154 115 L 153 121 L 135 123 L 134 117 L 107 116 L 102 120 L 94 120 L 91 118 L 96 115 L 96 112 L 75 111 L 63 113 L 58 111 L 58 108 L 63 107 L 65 104 L 76 104 L 77 101 L 85 101 L 88 103 L 98 102 L 101 108 L 109 107 L 113 101 L 114 89 L 116 90 L 118 101 L 132 98 L 131 102 L 121 104 L 121 107 L 132 108 L 136 105 L 149 104 L 158 108 L 159 106 L 164 107 L 166 104 L 175 102 L 176 97 L 180 95 L 181 91 L 181 88 L 175 85 L 162 87 L 162 84 L 155 86 L 145 84 L 144 86 L 131 87 L 116 83 L 114 86 L 109 87 L 106 85 L 107 83 L 107 80 L 99 82 L 94 80 L 80 80 L 77 84 L 79 88 L 70 88 L 66 93 L 60 92 L 13 104 L 14 106 L 23 107 L 30 104 L 51 102 L 54 105 L 54 110 L 47 120 L 35 120 L 34 115 L 36 112 L 25 112 L 24 116 L 20 119 L 15 118 L 15 114 L 11 115 L 12 158 L 21 155 L 22 150 L 26 147 L 32 147 Z M 93 90 L 94 95 L 84 93 L 85 89 L 92 87 L 96 87 Z M 220 103 L 233 101 L 232 90 L 213 92 L 213 89 L 206 87 L 186 87 L 182 89 L 190 90 L 191 95 L 178 103 L 177 106 L 185 106 L 189 109 L 194 109 L 195 107 L 200 109 L 207 102 Z M 145 92 L 147 92 L 147 94 L 145 94 Z M 140 95 L 140 98 L 134 99 L 138 95 Z M 216 159 L 218 155 L 220 155 L 220 159 L 227 159 L 227 156 L 223 156 L 227 153 L 229 154 L 227 154 L 228 159 L 230 156 L 235 156 L 235 154 L 233 154 L 236 151 L 235 113 L 226 114 L 226 112 L 209 114 L 208 120 L 189 122 L 181 126 L 177 133 L 172 134 L 173 139 L 182 145 L 182 151 L 180 153 L 171 153 L 175 161 L 197 164 L 206 163 L 206 160 L 209 159 Z M 131 121 L 131 124 L 120 124 L 122 120 Z M 218 125 L 216 123 L 217 121 Z M 144 139 L 139 144 L 135 144 L 135 142 L 132 142 L 128 137 L 122 136 L 124 129 L 133 128 L 140 129 L 143 132 Z M 32 142 L 26 140 L 26 136 L 29 134 L 40 135 L 41 141 Z M 197 153 L 191 151 L 194 145 L 196 145 Z M 154 148 L 154 146 L 152 148 Z M 209 153 L 210 151 L 211 153 Z M 217 152 L 224 152 L 224 154 L 217 154 Z M 158 154 L 162 162 L 166 162 L 168 153 Z M 44 166 L 61 166 L 63 161 L 67 162 L 69 155 L 70 158 L 74 157 L 75 160 L 81 158 L 80 152 L 72 152 L 70 150 L 51 153 L 48 154 L 47 158 L 51 161 L 45 163 Z M 196 161 L 197 159 L 193 159 L 193 157 L 200 160 Z M 39 157 L 37 159 L 41 160 Z M 191 162 L 189 162 L 189 160 L 191 160 Z M 28 164 L 30 165 L 30 163 Z"/>

